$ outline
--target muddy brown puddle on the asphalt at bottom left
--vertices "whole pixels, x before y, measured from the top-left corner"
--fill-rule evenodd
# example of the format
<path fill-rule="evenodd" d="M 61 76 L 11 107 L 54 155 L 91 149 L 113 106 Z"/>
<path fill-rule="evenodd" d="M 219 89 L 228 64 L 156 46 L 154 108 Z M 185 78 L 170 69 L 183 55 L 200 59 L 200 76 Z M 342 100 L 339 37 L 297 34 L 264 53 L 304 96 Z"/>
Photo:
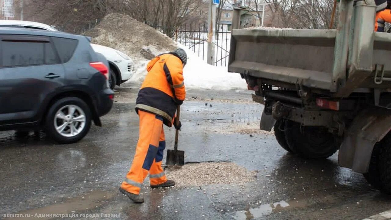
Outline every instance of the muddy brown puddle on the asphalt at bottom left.
<path fill-rule="evenodd" d="M 28 209 L 25 211 L 21 211 L 20 213 L 17 213 L 15 216 L 23 216 L 23 217 L 14 217 L 14 218 L 4 218 L 4 220 L 25 220 L 25 219 L 39 219 L 39 220 L 49 220 L 56 218 L 52 215 L 61 215 L 61 214 L 72 214 L 77 213 L 78 211 L 85 211 L 88 209 L 95 209 L 96 206 L 100 206 L 100 203 L 104 200 L 108 200 L 109 198 L 112 198 L 114 195 L 113 193 L 108 193 L 106 191 L 91 191 L 90 193 L 87 193 L 85 195 L 80 195 L 78 197 L 71 198 L 63 203 L 60 204 L 52 204 L 49 206 L 37 208 L 37 209 Z M 39 214 L 44 215 L 44 217 L 38 217 Z M 37 217 L 34 217 L 36 216 Z M 45 215 L 49 215 L 50 217 L 46 217 Z"/>

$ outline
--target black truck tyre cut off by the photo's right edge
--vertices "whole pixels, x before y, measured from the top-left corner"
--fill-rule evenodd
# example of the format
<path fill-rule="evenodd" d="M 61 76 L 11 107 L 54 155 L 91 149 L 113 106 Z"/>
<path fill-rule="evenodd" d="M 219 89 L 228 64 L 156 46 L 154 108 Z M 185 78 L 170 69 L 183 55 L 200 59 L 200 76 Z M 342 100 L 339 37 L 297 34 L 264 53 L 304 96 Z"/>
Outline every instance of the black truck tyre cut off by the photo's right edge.
<path fill-rule="evenodd" d="M 374 188 L 391 194 L 391 132 L 373 147 L 368 173 L 365 179 Z"/>

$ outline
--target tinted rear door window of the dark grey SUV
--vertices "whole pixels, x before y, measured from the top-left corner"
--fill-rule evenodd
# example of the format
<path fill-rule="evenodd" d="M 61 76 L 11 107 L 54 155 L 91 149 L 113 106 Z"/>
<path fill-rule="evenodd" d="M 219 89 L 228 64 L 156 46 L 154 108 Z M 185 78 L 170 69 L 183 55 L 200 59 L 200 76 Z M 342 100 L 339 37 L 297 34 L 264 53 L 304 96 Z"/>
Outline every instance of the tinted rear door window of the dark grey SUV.
<path fill-rule="evenodd" d="M 13 40 L 12 37 L 1 42 L 2 67 L 45 65 L 61 63 L 52 43 L 26 39 Z"/>

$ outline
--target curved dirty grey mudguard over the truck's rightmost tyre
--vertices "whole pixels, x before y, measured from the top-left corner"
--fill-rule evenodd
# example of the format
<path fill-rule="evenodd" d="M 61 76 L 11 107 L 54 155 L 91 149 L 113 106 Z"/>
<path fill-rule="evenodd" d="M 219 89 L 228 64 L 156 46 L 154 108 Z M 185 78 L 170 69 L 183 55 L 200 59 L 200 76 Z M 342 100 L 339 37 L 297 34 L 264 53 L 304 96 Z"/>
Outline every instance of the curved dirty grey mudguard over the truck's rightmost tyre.
<path fill-rule="evenodd" d="M 339 149 L 339 166 L 367 173 L 373 146 L 391 130 L 391 110 L 371 106 L 353 120 Z"/>

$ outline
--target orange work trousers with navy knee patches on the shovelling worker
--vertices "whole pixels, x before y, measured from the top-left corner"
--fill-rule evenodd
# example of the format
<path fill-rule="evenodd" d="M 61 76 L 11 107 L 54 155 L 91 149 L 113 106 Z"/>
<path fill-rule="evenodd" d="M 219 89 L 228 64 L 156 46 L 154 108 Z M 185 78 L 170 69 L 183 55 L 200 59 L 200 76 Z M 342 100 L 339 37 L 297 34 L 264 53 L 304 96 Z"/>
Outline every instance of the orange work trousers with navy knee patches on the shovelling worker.
<path fill-rule="evenodd" d="M 129 173 L 121 185 L 122 189 L 137 195 L 140 194 L 140 188 L 148 173 L 151 186 L 167 181 L 161 167 L 163 150 L 166 145 L 163 118 L 142 110 L 138 110 L 138 116 L 140 117 L 140 134 L 136 154 Z"/>

